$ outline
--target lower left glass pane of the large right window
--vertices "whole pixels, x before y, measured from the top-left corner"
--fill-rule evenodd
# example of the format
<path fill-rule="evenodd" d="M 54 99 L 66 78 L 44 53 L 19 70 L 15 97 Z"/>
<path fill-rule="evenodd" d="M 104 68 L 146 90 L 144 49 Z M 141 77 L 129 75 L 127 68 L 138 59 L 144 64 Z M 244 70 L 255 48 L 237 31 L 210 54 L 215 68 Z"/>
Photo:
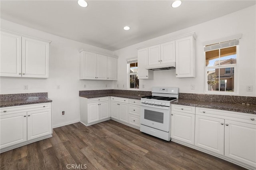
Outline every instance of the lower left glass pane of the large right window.
<path fill-rule="evenodd" d="M 219 69 L 207 69 L 207 91 L 219 91 Z"/>

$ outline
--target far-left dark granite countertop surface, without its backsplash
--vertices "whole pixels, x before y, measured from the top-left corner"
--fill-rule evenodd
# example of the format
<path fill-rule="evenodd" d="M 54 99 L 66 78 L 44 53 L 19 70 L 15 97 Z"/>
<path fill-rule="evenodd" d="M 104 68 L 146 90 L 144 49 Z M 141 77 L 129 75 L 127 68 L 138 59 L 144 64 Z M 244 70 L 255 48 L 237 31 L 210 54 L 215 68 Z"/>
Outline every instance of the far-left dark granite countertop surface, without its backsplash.
<path fill-rule="evenodd" d="M 0 107 L 30 105 L 30 104 L 48 103 L 48 102 L 52 102 L 52 100 L 49 99 L 49 98 L 26 99 L 26 100 L 10 100 L 10 101 L 1 101 Z"/>

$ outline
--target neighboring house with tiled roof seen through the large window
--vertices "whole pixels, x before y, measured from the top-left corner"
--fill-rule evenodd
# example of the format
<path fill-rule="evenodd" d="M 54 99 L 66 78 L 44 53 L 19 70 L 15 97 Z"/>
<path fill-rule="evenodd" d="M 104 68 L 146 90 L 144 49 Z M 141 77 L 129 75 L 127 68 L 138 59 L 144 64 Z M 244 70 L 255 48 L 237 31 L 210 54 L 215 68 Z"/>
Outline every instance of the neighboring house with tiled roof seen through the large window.
<path fill-rule="evenodd" d="M 215 65 L 235 64 L 236 59 L 215 61 Z M 234 67 L 208 71 L 208 91 L 234 91 Z"/>

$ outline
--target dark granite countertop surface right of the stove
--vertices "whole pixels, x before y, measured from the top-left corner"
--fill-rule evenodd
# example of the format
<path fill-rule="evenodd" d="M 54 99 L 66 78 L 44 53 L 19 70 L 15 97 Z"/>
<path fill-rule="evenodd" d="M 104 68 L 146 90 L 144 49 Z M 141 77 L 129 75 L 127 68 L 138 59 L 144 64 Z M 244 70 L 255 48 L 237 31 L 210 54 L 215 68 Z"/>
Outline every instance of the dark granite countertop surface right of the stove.
<path fill-rule="evenodd" d="M 236 104 L 236 103 L 197 101 L 197 100 L 189 100 L 189 99 L 178 99 L 171 103 L 176 105 L 195 106 L 195 107 L 203 107 L 203 108 L 209 108 L 209 109 L 219 109 L 219 110 L 225 110 L 225 111 L 235 111 L 235 112 L 256 114 L 256 105 L 247 106 L 247 105 Z"/>

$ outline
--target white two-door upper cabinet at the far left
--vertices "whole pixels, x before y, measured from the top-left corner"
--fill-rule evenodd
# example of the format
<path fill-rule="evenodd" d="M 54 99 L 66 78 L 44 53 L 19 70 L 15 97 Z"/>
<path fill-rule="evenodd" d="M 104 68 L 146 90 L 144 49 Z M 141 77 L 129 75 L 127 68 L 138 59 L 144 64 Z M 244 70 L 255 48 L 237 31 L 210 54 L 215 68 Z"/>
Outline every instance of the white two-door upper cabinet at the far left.
<path fill-rule="evenodd" d="M 0 76 L 49 77 L 50 41 L 1 29 Z"/>

